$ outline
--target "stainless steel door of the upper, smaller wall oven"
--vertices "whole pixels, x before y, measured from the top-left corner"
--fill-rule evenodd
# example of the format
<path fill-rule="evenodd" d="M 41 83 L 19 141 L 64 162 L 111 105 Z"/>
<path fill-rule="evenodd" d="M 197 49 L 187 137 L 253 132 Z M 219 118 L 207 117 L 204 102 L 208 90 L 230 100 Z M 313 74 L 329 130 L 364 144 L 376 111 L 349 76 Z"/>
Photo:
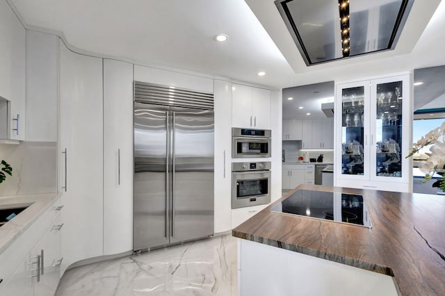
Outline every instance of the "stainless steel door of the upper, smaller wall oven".
<path fill-rule="evenodd" d="M 270 139 L 232 138 L 232 158 L 270 157 Z"/>

